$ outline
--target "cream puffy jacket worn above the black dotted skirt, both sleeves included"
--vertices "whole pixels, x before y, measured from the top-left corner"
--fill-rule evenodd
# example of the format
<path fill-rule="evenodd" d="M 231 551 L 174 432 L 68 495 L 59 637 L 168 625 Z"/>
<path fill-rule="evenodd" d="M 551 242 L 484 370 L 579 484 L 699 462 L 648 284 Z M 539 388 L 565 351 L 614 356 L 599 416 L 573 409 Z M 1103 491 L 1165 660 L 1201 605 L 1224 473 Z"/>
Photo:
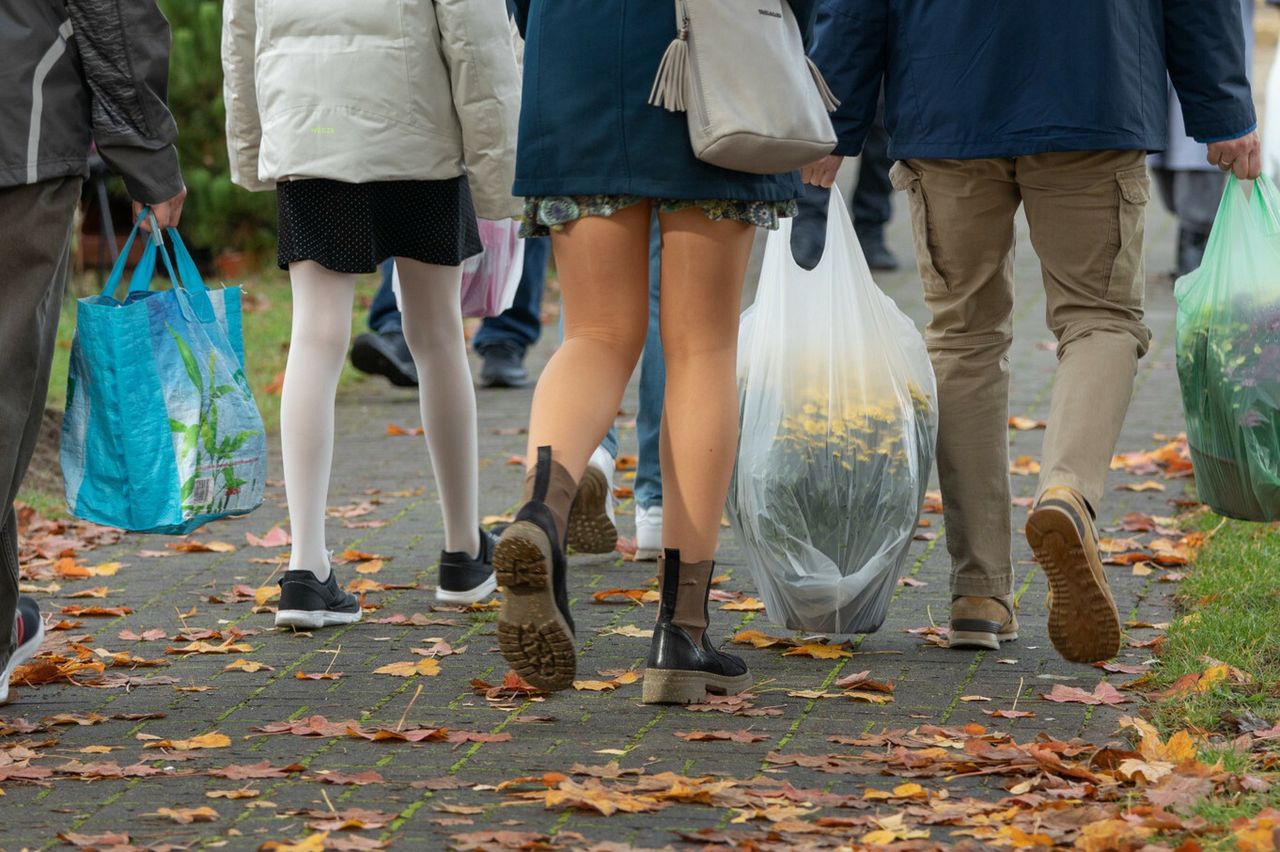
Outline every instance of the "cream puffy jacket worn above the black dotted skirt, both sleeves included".
<path fill-rule="evenodd" d="M 232 180 L 444 180 L 511 194 L 520 81 L 503 0 L 225 0 Z"/>

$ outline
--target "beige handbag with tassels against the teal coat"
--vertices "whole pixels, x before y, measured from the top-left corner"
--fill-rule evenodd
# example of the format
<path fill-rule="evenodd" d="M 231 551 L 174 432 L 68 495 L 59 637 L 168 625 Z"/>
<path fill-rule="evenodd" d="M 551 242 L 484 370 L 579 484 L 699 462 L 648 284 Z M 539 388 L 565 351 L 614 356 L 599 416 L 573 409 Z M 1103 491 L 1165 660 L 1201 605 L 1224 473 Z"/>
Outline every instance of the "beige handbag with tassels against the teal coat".
<path fill-rule="evenodd" d="M 828 113 L 840 101 L 805 56 L 787 0 L 676 0 L 676 20 L 649 102 L 689 114 L 699 160 L 781 174 L 835 150 Z"/>

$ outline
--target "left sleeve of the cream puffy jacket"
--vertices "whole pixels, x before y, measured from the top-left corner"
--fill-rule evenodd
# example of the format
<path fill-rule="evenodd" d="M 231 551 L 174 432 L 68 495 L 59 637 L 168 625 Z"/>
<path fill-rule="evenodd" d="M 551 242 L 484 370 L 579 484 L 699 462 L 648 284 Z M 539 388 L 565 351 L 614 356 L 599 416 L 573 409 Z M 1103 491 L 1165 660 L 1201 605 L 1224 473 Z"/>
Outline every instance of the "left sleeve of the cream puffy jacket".
<path fill-rule="evenodd" d="M 259 178 L 262 123 L 255 78 L 256 0 L 223 3 L 223 101 L 227 105 L 227 156 L 232 183 L 255 192 L 275 184 Z"/>

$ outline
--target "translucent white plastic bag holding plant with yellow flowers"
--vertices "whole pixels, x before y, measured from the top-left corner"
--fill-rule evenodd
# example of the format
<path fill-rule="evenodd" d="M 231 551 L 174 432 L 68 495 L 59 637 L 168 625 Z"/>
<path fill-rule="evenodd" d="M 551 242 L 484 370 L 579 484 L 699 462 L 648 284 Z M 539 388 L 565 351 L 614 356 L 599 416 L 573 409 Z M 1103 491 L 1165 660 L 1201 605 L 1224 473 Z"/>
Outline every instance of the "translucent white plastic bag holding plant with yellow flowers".
<path fill-rule="evenodd" d="M 884 620 L 933 467 L 937 385 L 915 324 L 872 280 L 838 189 L 813 271 L 769 235 L 742 315 L 742 425 L 728 514 L 769 618 Z"/>

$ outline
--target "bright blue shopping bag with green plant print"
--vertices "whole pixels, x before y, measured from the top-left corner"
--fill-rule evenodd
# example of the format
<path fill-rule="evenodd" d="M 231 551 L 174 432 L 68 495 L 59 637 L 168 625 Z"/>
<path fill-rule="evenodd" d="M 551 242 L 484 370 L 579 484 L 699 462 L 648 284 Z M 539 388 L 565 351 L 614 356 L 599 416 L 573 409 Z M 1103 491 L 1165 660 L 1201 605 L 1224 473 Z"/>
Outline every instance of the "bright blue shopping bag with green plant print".
<path fill-rule="evenodd" d="M 63 418 L 76 517 L 183 535 L 262 503 L 266 434 L 244 377 L 241 290 L 210 290 L 182 237 L 157 228 L 123 301 L 133 232 L 100 296 L 79 299 Z M 155 220 L 152 219 L 152 223 Z M 152 290 L 159 255 L 173 281 Z"/>

